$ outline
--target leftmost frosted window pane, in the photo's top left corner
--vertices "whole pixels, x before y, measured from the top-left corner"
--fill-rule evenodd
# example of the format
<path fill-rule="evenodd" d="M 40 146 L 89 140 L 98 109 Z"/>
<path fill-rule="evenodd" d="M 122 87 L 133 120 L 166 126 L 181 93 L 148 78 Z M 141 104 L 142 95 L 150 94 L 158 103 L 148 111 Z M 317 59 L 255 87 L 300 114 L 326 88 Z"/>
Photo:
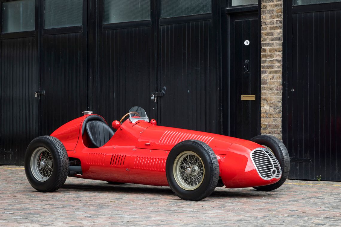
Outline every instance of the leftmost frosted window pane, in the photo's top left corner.
<path fill-rule="evenodd" d="M 19 0 L 2 4 L 2 33 L 34 30 L 34 0 Z"/>

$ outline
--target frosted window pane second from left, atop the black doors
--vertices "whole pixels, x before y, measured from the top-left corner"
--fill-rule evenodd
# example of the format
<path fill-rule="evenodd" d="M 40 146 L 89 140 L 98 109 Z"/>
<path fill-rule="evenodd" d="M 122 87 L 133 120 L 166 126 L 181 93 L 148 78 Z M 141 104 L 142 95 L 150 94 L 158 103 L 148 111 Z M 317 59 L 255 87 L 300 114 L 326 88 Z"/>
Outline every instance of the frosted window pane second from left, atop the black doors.
<path fill-rule="evenodd" d="M 45 0 L 44 28 L 82 25 L 83 0 Z"/>

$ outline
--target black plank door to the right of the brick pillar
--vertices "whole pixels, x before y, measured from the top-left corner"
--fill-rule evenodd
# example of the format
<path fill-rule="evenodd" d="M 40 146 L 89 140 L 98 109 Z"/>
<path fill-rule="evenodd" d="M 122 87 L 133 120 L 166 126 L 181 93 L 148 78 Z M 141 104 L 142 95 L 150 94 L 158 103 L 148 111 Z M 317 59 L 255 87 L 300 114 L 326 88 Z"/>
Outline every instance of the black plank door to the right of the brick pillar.
<path fill-rule="evenodd" d="M 341 180 L 341 3 L 288 2 L 283 141 L 290 178 Z"/>

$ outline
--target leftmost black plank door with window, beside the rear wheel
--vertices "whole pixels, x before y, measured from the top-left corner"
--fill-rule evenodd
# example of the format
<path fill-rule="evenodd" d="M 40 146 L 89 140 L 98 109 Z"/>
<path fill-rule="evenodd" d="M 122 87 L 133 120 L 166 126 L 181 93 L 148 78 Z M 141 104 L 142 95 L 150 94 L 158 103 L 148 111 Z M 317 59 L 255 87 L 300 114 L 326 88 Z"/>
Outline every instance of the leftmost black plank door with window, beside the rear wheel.
<path fill-rule="evenodd" d="M 0 5 L 0 164 L 22 164 L 28 143 L 39 135 L 38 20 L 32 0 Z"/>

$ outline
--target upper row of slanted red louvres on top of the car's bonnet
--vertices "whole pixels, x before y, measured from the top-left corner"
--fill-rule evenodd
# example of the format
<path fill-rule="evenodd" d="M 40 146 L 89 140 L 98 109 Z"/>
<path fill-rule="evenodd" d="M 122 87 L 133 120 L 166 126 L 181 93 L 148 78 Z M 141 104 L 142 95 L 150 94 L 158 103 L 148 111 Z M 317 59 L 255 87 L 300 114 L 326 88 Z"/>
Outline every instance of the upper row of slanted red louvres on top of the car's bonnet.
<path fill-rule="evenodd" d="M 186 132 L 176 132 L 176 131 L 165 131 L 159 140 L 159 144 L 177 144 L 184 140 L 199 140 L 206 144 L 209 144 L 214 137 L 198 135 L 194 133 L 186 133 Z"/>

